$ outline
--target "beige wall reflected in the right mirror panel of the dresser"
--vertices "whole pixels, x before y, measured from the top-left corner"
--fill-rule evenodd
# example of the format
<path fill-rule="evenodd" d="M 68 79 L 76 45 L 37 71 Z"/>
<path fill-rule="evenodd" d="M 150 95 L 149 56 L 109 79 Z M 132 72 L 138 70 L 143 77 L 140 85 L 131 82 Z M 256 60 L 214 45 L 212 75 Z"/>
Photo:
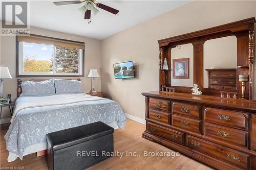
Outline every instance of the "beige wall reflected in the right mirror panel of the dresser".
<path fill-rule="evenodd" d="M 256 8 L 256 7 L 255 7 Z M 205 69 L 237 68 L 237 37 L 210 39 L 204 43 L 204 87 L 208 87 Z"/>

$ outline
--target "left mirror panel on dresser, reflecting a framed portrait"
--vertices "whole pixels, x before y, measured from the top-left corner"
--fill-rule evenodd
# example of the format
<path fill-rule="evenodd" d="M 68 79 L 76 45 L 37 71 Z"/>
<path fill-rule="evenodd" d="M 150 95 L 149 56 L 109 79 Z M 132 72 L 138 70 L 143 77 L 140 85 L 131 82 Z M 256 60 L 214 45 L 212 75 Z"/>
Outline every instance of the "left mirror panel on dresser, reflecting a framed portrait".
<path fill-rule="evenodd" d="M 189 58 L 189 64 L 187 66 L 188 68 L 188 78 L 174 78 L 175 73 L 173 72 L 173 74 L 171 74 L 171 79 L 172 79 L 172 84 L 174 86 L 193 86 L 193 45 L 191 43 L 189 44 L 183 44 L 183 45 L 177 45 L 175 47 L 172 48 L 171 50 L 171 54 L 172 54 L 172 59 L 173 60 L 177 60 L 177 59 L 184 59 L 184 58 Z M 179 70 L 181 75 L 183 76 L 186 72 L 186 66 L 184 66 L 185 64 L 182 62 L 178 62 L 173 64 L 172 63 L 172 71 L 176 70 L 176 75 L 179 75 Z M 177 68 L 174 68 L 177 67 Z M 179 68 L 178 68 L 179 67 Z"/>

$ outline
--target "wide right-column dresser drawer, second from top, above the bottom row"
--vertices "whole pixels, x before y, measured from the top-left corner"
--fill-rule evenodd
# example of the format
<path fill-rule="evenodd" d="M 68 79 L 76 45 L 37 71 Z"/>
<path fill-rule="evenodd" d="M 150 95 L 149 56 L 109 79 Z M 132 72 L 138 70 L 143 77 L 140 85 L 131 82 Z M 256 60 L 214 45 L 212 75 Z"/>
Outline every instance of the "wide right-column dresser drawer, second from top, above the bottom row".
<path fill-rule="evenodd" d="M 205 136 L 247 147 L 248 132 L 208 123 L 204 125 Z"/>

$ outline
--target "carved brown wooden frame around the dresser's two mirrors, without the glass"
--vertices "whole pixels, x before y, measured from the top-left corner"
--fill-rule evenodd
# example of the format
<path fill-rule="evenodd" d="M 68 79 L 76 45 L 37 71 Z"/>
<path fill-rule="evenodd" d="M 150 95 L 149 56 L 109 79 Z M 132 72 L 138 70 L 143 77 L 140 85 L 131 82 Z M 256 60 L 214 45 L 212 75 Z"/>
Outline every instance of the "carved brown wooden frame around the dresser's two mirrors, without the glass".
<path fill-rule="evenodd" d="M 177 45 L 192 43 L 194 74 L 193 82 L 198 84 L 203 94 L 220 96 L 221 89 L 203 88 L 203 59 L 204 42 L 210 39 L 227 37 L 234 35 L 237 37 L 237 89 L 238 98 L 242 96 L 242 84 L 238 80 L 238 75 L 249 75 L 249 83 L 246 83 L 245 98 L 252 99 L 253 88 L 253 59 L 254 59 L 254 22 L 255 18 L 247 18 L 225 25 L 212 27 L 188 34 L 158 40 L 159 43 L 159 90 L 161 86 L 174 87 L 175 92 L 191 93 L 191 87 L 172 86 L 172 70 L 162 70 L 164 58 L 167 59 L 168 66 L 172 63 L 171 49 Z"/>

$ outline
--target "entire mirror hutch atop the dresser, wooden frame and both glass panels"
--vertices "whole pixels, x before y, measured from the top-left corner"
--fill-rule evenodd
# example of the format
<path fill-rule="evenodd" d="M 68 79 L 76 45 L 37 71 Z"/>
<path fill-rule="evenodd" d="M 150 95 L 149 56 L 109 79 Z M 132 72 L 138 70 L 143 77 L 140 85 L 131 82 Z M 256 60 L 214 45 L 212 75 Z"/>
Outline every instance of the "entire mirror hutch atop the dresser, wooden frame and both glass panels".
<path fill-rule="evenodd" d="M 191 87 L 197 84 L 205 95 L 221 96 L 221 91 L 231 91 L 237 98 L 251 100 L 254 22 L 252 17 L 158 40 L 159 90 L 192 93 Z M 188 58 L 189 73 L 174 77 L 177 68 L 173 61 Z M 163 69 L 164 63 L 170 69 Z"/>

